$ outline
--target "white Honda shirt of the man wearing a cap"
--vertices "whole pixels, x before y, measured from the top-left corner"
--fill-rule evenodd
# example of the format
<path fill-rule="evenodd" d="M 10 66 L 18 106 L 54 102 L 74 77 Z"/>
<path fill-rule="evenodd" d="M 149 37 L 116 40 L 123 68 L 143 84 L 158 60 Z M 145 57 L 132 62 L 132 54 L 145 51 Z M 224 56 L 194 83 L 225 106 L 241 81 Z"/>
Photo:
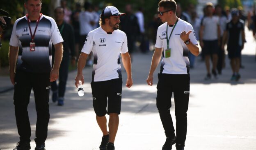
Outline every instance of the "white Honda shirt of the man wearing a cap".
<path fill-rule="evenodd" d="M 121 78 L 120 53 L 128 52 L 126 34 L 117 29 L 107 34 L 101 27 L 90 31 L 82 52 L 93 52 L 92 81 L 107 81 Z"/>

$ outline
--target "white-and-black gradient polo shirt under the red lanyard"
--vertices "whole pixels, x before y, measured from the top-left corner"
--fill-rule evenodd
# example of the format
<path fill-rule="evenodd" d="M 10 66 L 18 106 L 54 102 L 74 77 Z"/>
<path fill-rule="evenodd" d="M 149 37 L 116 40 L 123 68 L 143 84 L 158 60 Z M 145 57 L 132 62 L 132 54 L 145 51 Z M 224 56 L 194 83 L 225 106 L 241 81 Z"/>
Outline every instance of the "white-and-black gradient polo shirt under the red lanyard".
<path fill-rule="evenodd" d="M 36 21 L 30 22 L 32 34 L 36 25 Z M 34 37 L 35 51 L 30 51 L 31 41 L 27 16 L 17 19 L 9 43 L 11 46 L 19 47 L 16 70 L 49 73 L 52 66 L 52 43 L 55 45 L 63 42 L 53 18 L 41 15 Z"/>

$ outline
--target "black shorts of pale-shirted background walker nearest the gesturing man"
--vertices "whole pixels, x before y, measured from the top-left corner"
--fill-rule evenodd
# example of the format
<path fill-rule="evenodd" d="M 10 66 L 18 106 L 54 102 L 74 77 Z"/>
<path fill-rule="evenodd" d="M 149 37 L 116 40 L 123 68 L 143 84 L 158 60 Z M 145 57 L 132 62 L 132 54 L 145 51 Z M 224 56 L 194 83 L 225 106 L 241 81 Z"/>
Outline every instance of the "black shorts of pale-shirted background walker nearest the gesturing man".
<path fill-rule="evenodd" d="M 205 55 L 218 54 L 218 40 L 203 40 L 203 53 Z"/>

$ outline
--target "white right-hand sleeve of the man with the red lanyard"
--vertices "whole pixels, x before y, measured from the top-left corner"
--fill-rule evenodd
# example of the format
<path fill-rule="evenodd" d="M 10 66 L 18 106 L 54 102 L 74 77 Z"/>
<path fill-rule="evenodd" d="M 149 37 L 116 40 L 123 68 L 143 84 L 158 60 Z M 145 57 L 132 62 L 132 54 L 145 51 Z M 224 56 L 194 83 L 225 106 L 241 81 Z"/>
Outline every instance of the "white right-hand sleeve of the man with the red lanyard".
<path fill-rule="evenodd" d="M 56 24 L 55 20 L 53 20 L 53 18 L 51 18 L 51 22 L 52 22 L 51 40 L 53 42 L 53 45 L 55 45 L 57 43 L 63 42 L 64 40 L 62 39 L 62 36 L 59 32 L 57 24 Z"/>

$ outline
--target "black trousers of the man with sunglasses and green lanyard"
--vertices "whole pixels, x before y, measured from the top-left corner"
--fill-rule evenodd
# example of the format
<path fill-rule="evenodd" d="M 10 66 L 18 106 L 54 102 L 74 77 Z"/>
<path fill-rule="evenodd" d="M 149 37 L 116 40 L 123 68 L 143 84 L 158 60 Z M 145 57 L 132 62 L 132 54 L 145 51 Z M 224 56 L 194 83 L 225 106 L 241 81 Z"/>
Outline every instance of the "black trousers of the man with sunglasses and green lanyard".
<path fill-rule="evenodd" d="M 166 137 L 174 137 L 174 125 L 171 119 L 171 96 L 174 93 L 176 116 L 176 145 L 185 146 L 187 136 L 187 109 L 190 91 L 190 75 L 158 74 L 156 106 L 160 114 Z"/>

